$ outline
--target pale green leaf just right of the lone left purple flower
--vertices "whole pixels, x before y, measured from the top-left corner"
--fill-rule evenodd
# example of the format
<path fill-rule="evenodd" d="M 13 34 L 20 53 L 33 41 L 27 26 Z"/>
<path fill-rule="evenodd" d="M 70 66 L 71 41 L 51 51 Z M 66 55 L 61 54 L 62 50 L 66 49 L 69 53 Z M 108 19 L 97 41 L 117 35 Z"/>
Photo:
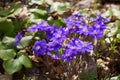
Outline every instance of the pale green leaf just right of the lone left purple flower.
<path fill-rule="evenodd" d="M 30 40 L 32 39 L 32 36 L 25 36 L 21 39 L 20 44 L 17 46 L 17 48 L 24 48 L 28 46 Z"/>

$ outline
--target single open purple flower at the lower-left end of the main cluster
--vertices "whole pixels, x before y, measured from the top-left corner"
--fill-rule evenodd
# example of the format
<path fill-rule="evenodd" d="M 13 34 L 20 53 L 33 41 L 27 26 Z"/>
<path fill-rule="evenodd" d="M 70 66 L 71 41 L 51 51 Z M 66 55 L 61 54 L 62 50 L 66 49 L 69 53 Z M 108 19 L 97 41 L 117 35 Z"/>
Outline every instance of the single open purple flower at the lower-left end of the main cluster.
<path fill-rule="evenodd" d="M 33 49 L 36 56 L 47 54 L 46 41 L 43 39 L 41 41 L 36 41 L 34 43 Z"/>

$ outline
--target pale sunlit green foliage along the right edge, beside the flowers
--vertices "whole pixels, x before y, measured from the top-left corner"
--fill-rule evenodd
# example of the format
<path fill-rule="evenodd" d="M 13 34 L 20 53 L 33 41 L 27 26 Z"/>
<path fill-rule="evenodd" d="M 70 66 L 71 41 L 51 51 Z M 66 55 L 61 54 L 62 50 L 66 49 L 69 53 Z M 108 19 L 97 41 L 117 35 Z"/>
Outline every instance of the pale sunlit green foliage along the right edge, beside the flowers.
<path fill-rule="evenodd" d="M 106 41 L 110 43 L 111 53 L 116 52 L 116 44 L 120 42 L 120 10 L 118 9 L 109 9 L 106 11 L 103 16 L 109 17 L 113 22 L 107 24 L 106 29 Z"/>

